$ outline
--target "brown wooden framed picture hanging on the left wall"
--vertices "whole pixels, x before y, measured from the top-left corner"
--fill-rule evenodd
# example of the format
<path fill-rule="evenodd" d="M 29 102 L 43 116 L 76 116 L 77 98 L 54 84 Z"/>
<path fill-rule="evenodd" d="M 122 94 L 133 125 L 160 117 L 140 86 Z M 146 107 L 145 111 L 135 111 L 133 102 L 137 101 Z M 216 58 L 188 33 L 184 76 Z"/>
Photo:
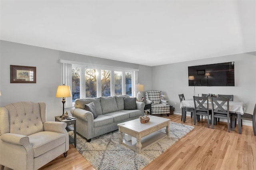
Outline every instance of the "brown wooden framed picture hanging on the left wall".
<path fill-rule="evenodd" d="M 11 83 L 36 83 L 36 67 L 10 65 Z"/>

